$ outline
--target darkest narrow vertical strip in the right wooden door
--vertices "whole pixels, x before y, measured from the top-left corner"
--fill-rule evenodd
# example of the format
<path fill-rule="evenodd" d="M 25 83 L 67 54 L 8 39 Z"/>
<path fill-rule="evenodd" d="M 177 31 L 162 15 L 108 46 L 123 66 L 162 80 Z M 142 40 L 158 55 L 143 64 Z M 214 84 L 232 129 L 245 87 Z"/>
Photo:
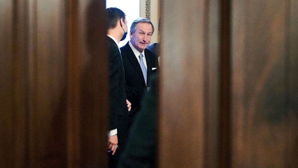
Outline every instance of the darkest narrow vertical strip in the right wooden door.
<path fill-rule="evenodd" d="M 220 1 L 220 54 L 219 54 L 219 167 L 231 165 L 231 5 L 230 0 Z"/>

